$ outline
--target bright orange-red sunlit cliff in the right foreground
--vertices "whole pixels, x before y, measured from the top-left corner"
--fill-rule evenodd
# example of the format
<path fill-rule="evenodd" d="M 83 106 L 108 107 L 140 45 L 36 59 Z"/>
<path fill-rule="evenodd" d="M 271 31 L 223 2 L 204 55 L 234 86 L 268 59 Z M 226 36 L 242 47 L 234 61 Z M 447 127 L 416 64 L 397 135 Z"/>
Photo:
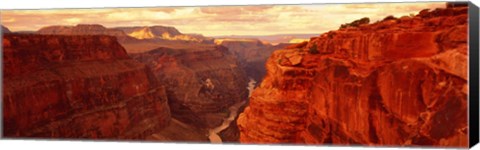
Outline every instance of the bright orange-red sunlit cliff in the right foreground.
<path fill-rule="evenodd" d="M 448 7 L 275 51 L 240 142 L 466 147 L 466 43 L 467 7 Z"/>

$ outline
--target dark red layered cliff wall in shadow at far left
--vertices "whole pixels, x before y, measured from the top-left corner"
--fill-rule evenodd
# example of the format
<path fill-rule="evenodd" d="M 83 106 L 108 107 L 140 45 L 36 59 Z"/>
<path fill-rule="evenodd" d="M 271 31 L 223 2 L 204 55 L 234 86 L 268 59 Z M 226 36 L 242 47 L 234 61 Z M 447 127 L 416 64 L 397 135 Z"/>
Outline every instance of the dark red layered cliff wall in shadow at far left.
<path fill-rule="evenodd" d="M 153 73 L 115 37 L 3 37 L 5 137 L 144 139 L 170 109 Z"/>

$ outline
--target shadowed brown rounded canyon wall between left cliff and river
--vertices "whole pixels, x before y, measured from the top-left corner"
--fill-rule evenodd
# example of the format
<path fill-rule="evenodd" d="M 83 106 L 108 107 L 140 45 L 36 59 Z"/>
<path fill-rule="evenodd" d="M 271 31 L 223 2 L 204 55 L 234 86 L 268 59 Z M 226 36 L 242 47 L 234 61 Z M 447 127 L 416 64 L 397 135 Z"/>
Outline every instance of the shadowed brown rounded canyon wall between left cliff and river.
<path fill-rule="evenodd" d="M 228 107 L 247 98 L 247 79 L 223 46 L 155 50 L 132 55 L 148 64 L 166 85 L 173 117 L 199 128 L 213 128 L 228 117 Z"/>

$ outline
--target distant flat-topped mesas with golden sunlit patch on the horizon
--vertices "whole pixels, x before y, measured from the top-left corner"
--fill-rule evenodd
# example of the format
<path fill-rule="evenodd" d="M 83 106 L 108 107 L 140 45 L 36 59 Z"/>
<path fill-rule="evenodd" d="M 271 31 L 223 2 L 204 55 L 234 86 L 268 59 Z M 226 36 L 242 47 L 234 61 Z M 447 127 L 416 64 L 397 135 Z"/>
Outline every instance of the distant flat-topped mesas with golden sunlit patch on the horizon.
<path fill-rule="evenodd" d="M 110 35 L 128 53 L 142 53 L 160 46 L 169 48 L 204 47 L 213 43 L 213 39 L 201 35 L 180 33 L 173 27 L 118 27 L 106 28 L 98 24 L 78 24 L 76 26 L 48 26 L 36 32 L 44 35 Z"/>

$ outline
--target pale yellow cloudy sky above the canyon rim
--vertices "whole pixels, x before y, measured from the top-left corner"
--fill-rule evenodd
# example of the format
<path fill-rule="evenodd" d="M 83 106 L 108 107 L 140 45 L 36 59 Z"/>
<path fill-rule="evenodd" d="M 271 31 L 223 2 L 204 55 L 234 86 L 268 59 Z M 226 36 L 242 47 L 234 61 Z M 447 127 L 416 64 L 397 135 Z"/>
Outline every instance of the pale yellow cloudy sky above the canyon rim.
<path fill-rule="evenodd" d="M 108 9 L 2 10 L 1 23 L 12 31 L 38 30 L 49 25 L 101 24 L 173 26 L 182 33 L 218 35 L 320 34 L 340 24 L 369 17 L 401 17 L 445 3 L 371 3 L 322 5 L 257 5 Z"/>

